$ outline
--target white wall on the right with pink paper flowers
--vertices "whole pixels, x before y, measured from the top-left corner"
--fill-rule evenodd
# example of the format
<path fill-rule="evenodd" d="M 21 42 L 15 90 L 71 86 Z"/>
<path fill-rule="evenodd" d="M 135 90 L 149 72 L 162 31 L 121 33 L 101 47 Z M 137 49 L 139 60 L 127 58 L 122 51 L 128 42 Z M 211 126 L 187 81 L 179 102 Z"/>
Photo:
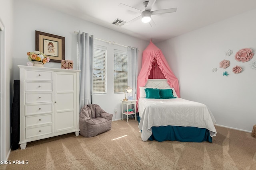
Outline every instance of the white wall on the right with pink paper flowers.
<path fill-rule="evenodd" d="M 156 44 L 179 79 L 181 98 L 206 104 L 216 124 L 244 131 L 256 124 L 256 70 L 250 68 L 256 55 L 246 63 L 235 61 L 234 55 L 245 47 L 256 52 L 255 16 L 252 10 Z M 234 51 L 230 57 L 224 54 L 228 49 Z M 219 67 L 223 59 L 230 61 L 226 69 Z M 232 72 L 236 65 L 242 73 Z"/>

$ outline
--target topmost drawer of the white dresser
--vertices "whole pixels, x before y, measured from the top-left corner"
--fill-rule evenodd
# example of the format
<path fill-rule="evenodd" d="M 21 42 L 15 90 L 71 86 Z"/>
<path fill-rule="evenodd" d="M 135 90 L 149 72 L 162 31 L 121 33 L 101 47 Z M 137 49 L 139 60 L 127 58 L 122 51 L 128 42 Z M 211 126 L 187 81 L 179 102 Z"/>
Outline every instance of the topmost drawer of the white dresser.
<path fill-rule="evenodd" d="M 53 72 L 41 70 L 25 70 L 25 80 L 52 81 Z"/>

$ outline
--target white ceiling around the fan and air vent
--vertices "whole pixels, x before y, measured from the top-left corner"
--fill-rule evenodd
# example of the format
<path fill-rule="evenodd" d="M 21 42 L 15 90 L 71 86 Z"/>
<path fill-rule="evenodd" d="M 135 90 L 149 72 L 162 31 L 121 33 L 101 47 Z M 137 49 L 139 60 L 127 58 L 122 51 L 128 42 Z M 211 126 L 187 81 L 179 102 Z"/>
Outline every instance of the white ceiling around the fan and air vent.
<path fill-rule="evenodd" d="M 178 8 L 177 12 L 152 16 L 156 26 L 136 20 L 121 27 L 116 18 L 130 21 L 140 14 L 119 7 L 120 3 L 144 11 L 146 0 L 28 0 L 72 16 L 155 43 L 225 20 L 256 8 L 256 0 L 156 0 L 152 11 Z M 250 25 L 250 23 L 238 23 Z M 221 29 L 221 28 L 220 28 Z"/>

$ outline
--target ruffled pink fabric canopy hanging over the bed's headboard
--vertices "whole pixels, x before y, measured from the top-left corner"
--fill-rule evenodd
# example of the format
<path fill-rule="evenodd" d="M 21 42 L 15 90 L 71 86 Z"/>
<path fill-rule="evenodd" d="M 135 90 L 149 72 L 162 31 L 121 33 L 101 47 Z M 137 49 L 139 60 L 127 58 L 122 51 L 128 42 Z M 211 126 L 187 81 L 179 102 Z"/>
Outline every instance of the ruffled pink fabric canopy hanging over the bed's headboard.
<path fill-rule="evenodd" d="M 154 68 L 152 69 L 152 65 Z M 157 69 L 159 67 L 159 69 Z M 154 73 L 152 72 L 154 70 Z M 140 88 L 146 85 L 148 78 L 166 78 L 170 87 L 175 89 L 177 96 L 180 98 L 180 87 L 178 78 L 174 76 L 168 65 L 162 51 L 156 47 L 150 40 L 148 47 L 142 54 L 142 68 L 138 75 L 137 83 L 137 100 L 140 98 Z M 138 105 L 137 105 L 138 106 Z"/>

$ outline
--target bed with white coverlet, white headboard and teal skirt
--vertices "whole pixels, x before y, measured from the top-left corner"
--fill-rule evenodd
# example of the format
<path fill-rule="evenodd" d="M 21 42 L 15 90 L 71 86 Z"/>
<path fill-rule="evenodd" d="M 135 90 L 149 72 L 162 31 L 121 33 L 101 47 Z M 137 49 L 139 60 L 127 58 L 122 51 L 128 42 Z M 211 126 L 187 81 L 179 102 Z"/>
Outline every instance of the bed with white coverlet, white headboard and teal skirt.
<path fill-rule="evenodd" d="M 173 98 L 145 98 L 145 89 L 171 89 Z M 170 90 L 168 90 L 170 92 Z M 214 116 L 201 103 L 178 98 L 166 79 L 148 79 L 140 87 L 138 121 L 143 141 L 212 142 L 216 135 Z"/>

